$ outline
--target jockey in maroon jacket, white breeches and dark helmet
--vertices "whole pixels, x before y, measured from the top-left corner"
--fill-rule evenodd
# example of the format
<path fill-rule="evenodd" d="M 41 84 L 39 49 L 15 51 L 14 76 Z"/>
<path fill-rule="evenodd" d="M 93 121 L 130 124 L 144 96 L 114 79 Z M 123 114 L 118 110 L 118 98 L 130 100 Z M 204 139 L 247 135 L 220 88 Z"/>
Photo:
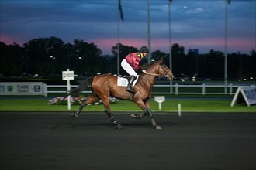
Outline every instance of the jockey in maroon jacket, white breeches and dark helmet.
<path fill-rule="evenodd" d="M 127 91 L 130 91 L 132 93 L 135 93 L 135 90 L 133 89 L 133 82 L 137 78 L 136 71 L 139 70 L 140 66 L 140 60 L 143 57 L 146 57 L 148 54 L 148 49 L 146 46 L 142 46 L 140 48 L 140 51 L 137 53 L 130 53 L 126 56 L 125 59 L 121 62 L 121 66 L 124 70 L 126 70 L 127 73 L 130 74 L 131 78 L 129 80 L 128 86 L 126 87 Z M 145 70 L 142 70 L 144 73 Z"/>

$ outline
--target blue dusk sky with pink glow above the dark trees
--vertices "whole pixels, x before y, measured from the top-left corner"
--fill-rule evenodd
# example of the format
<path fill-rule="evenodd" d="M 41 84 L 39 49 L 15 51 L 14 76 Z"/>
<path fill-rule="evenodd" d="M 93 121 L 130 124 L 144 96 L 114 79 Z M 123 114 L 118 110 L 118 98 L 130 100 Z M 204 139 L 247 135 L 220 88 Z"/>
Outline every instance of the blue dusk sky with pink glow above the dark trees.
<path fill-rule="evenodd" d="M 23 45 L 31 39 L 56 36 L 64 42 L 93 42 L 103 54 L 117 43 L 118 0 L 0 0 L 0 40 Z M 121 0 L 124 21 L 120 43 L 147 46 L 147 0 Z M 150 0 L 150 49 L 168 53 L 168 0 Z M 173 0 L 171 43 L 209 53 L 224 51 L 226 0 Z M 231 0 L 228 53 L 250 53 L 256 46 L 256 0 Z"/>

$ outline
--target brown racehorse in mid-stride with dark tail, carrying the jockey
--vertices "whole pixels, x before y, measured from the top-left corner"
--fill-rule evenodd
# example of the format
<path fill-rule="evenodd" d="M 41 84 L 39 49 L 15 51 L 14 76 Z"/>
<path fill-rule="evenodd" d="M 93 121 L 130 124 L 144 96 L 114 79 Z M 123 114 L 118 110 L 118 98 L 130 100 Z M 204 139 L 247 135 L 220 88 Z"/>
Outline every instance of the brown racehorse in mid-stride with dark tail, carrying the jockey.
<path fill-rule="evenodd" d="M 78 93 L 81 90 L 86 89 L 89 83 L 92 84 L 92 95 L 90 95 L 86 100 L 84 100 L 78 110 L 73 111 L 70 114 L 70 117 L 78 117 L 81 113 L 81 110 L 88 104 L 92 104 L 96 100 L 101 99 L 105 107 L 105 112 L 109 116 L 113 124 L 117 125 L 118 129 L 123 129 L 121 124 L 118 124 L 115 118 L 112 116 L 110 110 L 109 97 L 116 97 L 122 100 L 132 100 L 136 103 L 144 112 L 140 115 L 131 114 L 130 117 L 141 118 L 144 116 L 149 116 L 153 128 L 161 129 L 161 126 L 157 125 L 154 121 L 152 111 L 150 110 L 150 97 L 151 90 L 154 86 L 154 81 L 157 76 L 166 77 L 167 80 L 172 80 L 174 78 L 171 70 L 168 66 L 164 64 L 163 59 L 158 60 L 156 63 L 153 63 L 147 69 L 147 73 L 140 74 L 134 89 L 135 93 L 130 93 L 126 91 L 126 87 L 117 86 L 117 76 L 102 74 L 99 76 L 89 77 L 85 79 L 76 89 L 71 90 L 71 93 Z"/>

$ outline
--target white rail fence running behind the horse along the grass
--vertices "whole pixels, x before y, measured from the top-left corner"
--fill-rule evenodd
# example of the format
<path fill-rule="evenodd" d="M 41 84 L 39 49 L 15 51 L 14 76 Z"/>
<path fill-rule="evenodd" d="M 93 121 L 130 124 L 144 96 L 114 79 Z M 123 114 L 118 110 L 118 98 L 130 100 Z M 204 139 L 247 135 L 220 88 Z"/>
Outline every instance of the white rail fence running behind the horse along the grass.
<path fill-rule="evenodd" d="M 71 85 L 71 88 L 78 85 Z M 229 94 L 233 95 L 237 87 L 240 85 L 227 85 L 227 93 L 225 93 L 224 84 L 201 84 L 201 85 L 182 85 L 175 83 L 174 85 L 154 85 L 152 94 Z M 90 89 L 90 88 L 89 88 Z M 43 95 L 48 96 L 49 93 L 67 93 L 67 85 L 47 85 L 43 84 Z M 92 90 L 82 91 L 81 93 L 92 93 Z"/>

